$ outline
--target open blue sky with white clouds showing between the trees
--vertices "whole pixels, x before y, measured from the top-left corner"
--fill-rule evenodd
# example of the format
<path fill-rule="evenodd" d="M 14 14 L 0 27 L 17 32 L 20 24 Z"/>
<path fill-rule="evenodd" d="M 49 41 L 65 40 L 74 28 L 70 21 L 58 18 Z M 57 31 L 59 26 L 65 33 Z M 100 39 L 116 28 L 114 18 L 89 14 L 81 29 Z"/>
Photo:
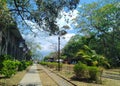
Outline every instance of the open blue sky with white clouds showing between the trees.
<path fill-rule="evenodd" d="M 96 0 L 80 0 L 79 6 L 82 6 L 82 3 L 91 3 L 93 1 L 96 1 Z M 68 33 L 63 36 L 64 39 L 63 39 L 63 37 L 61 37 L 61 40 L 60 40 L 60 48 L 61 49 L 70 40 L 70 38 L 76 34 L 76 31 L 71 26 L 72 22 L 66 23 L 65 19 L 69 19 L 69 21 L 71 21 L 72 19 L 76 18 L 76 16 L 78 15 L 78 11 L 74 10 L 73 12 L 68 12 L 68 13 L 62 11 L 62 13 L 64 15 L 66 15 L 66 17 L 62 16 L 61 19 L 57 20 L 57 25 L 59 26 L 59 28 L 61 28 L 61 30 L 62 30 L 62 27 L 64 25 L 68 25 L 70 27 L 70 29 L 67 30 Z M 41 46 L 41 50 L 36 49 L 37 53 L 42 54 L 42 55 L 40 55 L 40 56 L 42 56 L 42 57 L 40 57 L 40 59 L 43 58 L 44 56 L 48 55 L 50 52 L 57 51 L 57 49 L 58 49 L 57 48 L 57 46 L 58 46 L 58 36 L 46 35 L 48 33 L 41 30 L 35 23 L 32 23 L 31 21 L 26 21 L 26 22 L 28 23 L 28 25 L 30 25 L 33 28 L 33 31 L 37 35 L 35 36 L 32 33 L 29 33 L 27 35 L 22 34 L 23 38 L 26 41 L 29 41 L 33 44 L 38 44 L 38 45 Z M 38 28 L 40 30 L 38 30 Z M 31 47 L 31 46 L 29 46 L 29 47 Z"/>

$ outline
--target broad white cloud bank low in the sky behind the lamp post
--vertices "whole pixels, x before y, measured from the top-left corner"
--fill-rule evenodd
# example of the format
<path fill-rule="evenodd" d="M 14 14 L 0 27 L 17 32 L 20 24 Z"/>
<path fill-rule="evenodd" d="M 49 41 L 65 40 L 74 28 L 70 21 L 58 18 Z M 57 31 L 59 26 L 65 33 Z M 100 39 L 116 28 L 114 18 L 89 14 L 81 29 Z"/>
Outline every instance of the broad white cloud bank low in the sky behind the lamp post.
<path fill-rule="evenodd" d="M 65 46 L 65 44 L 69 41 L 69 39 L 74 35 L 75 35 L 74 33 L 68 33 L 61 37 L 61 40 L 60 40 L 61 49 Z M 63 39 L 63 37 L 65 39 Z M 40 46 L 42 47 L 40 52 L 42 54 L 48 54 L 50 52 L 55 52 L 58 47 L 58 36 L 49 36 L 49 37 L 41 38 L 41 37 L 34 37 L 31 34 L 28 34 L 28 35 L 25 35 L 24 38 L 26 39 L 26 41 L 40 44 Z"/>

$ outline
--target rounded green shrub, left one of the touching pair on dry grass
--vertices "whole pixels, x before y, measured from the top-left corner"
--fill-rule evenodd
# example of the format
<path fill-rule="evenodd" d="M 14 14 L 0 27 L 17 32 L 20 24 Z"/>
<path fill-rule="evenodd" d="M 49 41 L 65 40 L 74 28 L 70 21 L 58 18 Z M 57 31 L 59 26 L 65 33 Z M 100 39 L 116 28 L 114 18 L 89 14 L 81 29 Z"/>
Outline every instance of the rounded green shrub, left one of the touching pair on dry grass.
<path fill-rule="evenodd" d="M 78 62 L 78 64 L 76 64 L 74 66 L 74 72 L 75 72 L 75 75 L 78 79 L 81 79 L 81 78 L 88 78 L 88 67 L 86 64 L 83 64 L 81 62 Z"/>

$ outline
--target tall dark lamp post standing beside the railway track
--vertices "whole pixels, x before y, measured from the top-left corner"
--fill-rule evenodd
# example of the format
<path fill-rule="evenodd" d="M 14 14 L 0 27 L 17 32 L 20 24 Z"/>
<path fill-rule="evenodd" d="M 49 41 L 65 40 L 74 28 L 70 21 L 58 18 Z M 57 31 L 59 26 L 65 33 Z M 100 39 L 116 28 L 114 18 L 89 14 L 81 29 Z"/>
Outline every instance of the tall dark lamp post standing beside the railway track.
<path fill-rule="evenodd" d="M 65 30 L 61 30 L 58 32 L 58 71 L 60 71 L 60 37 L 65 35 L 67 32 Z"/>

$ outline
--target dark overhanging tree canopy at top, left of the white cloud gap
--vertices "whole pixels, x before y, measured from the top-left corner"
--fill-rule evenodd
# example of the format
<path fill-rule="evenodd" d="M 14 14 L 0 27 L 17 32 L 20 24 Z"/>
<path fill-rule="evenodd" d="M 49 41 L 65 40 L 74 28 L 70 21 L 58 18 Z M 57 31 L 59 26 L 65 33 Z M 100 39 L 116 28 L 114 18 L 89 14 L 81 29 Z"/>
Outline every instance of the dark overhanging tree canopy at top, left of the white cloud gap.
<path fill-rule="evenodd" d="M 37 23 L 50 34 L 57 34 L 59 27 L 56 19 L 61 16 L 63 10 L 75 9 L 79 0 L 7 0 L 7 3 L 9 11 L 16 20 Z"/>

